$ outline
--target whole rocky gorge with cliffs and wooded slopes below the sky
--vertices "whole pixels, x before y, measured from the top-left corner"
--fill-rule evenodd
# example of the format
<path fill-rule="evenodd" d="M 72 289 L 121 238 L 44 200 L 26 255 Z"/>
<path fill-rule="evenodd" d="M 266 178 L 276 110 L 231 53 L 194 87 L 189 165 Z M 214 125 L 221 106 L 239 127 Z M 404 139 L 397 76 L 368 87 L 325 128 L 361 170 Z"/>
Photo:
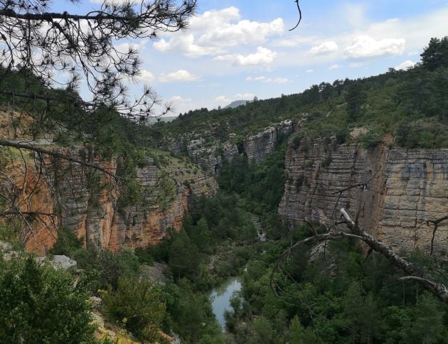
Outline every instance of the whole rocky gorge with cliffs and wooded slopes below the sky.
<path fill-rule="evenodd" d="M 84 123 L 66 109 L 42 122 L 3 104 L 3 307 L 18 309 L 16 278 L 45 306 L 35 286 L 54 277 L 65 309 L 70 295 L 93 298 L 83 323 L 95 315 L 99 340 L 226 343 L 218 317 L 237 343 L 444 343 L 445 69 L 151 125 L 112 111 Z M 422 80 L 436 85 L 430 104 L 416 101 Z M 360 244 L 358 226 L 386 254 Z M 55 272 L 34 254 L 73 264 Z M 221 317 L 209 291 L 226 281 Z"/>

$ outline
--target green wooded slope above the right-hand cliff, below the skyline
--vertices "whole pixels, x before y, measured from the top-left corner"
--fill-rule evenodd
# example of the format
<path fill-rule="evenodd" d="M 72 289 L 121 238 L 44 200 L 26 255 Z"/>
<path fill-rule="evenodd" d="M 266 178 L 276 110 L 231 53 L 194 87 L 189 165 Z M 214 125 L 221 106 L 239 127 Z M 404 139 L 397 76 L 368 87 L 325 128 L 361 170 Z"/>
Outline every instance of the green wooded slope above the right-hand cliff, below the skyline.
<path fill-rule="evenodd" d="M 185 133 L 213 137 L 245 135 L 284 119 L 305 119 L 310 136 L 348 133 L 367 127 L 395 136 L 398 146 L 448 146 L 448 38 L 432 38 L 422 62 L 409 70 L 390 68 L 384 74 L 358 80 L 335 80 L 312 85 L 297 95 L 250 102 L 236 109 L 198 109 L 180 114 L 171 123 L 154 127 L 164 136 Z"/>

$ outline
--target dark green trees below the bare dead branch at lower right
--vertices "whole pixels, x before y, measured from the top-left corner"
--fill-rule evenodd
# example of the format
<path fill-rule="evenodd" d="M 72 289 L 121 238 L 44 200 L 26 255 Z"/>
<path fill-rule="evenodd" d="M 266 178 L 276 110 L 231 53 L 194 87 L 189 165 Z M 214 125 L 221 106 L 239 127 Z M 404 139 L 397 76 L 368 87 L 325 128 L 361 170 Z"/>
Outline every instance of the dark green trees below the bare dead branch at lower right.
<path fill-rule="evenodd" d="M 229 319 L 247 324 L 233 330 L 238 343 L 251 343 L 250 333 L 258 340 L 261 333 L 267 343 L 447 343 L 447 305 L 417 284 L 399 281 L 398 269 L 379 254 L 365 261 L 350 240 L 329 244 L 327 258 L 312 263 L 306 254 L 311 247 L 293 252 L 284 267 L 289 278 L 274 276 L 275 297 L 270 271 L 275 252 L 287 244 L 263 244 L 247 264 L 240 308 L 250 311 L 230 313 Z"/>

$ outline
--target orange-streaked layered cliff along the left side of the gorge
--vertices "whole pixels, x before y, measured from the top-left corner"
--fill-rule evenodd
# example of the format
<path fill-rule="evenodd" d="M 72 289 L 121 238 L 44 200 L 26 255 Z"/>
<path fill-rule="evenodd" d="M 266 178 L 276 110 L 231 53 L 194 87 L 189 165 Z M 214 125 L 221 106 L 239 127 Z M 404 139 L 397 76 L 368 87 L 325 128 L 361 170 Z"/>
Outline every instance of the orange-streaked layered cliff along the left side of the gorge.
<path fill-rule="evenodd" d="M 95 162 L 112 173 L 119 168 L 114 159 L 99 161 L 82 148 L 65 149 L 64 153 Z M 18 201 L 21 211 L 55 214 L 31 224 L 33 232 L 28 233 L 26 248 L 40 254 L 56 240 L 54 225 L 68 227 L 103 249 L 156 244 L 169 228 L 180 230 L 191 195 L 213 195 L 217 188 L 215 180 L 199 166 L 169 154 L 148 158 L 134 170 L 135 178 L 126 186 L 63 161 L 46 161 L 41 178 L 31 157 L 28 168 L 24 165 L 18 158 L 7 171 L 23 198 Z M 0 186 L 11 188 L 8 181 L 1 181 Z"/>

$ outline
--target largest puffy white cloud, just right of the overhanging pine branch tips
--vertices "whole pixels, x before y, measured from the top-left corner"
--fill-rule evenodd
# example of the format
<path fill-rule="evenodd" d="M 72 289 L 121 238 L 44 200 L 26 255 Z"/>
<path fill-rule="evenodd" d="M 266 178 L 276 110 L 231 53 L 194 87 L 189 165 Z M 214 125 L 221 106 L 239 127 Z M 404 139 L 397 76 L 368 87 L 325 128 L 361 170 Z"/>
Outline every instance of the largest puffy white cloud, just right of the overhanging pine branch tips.
<path fill-rule="evenodd" d="M 154 43 L 154 48 L 161 52 L 180 50 L 190 58 L 197 58 L 222 54 L 226 48 L 237 45 L 265 43 L 268 37 L 284 32 L 282 18 L 269 23 L 240 19 L 240 10 L 233 6 L 206 11 L 191 18 L 186 33 L 167 33 Z"/>

